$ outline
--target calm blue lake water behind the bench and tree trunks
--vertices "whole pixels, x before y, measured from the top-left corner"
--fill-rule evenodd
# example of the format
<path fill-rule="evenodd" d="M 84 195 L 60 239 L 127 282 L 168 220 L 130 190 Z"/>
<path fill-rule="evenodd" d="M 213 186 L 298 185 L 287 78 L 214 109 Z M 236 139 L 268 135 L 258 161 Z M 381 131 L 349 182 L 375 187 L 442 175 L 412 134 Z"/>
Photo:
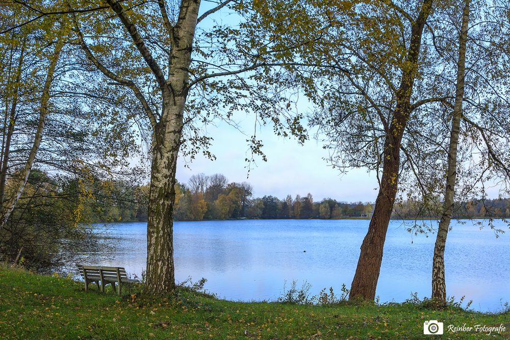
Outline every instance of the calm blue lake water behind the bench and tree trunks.
<path fill-rule="evenodd" d="M 206 289 L 228 300 L 276 300 L 297 280 L 311 294 L 342 283 L 350 286 L 367 220 L 242 220 L 175 222 L 177 281 L 207 278 Z M 496 224 L 504 230 L 502 222 Z M 145 269 L 146 223 L 112 223 L 118 238 L 113 260 L 140 276 Z M 413 236 L 403 221 L 392 221 L 377 286 L 380 302 L 402 302 L 417 292 L 430 296 L 435 234 Z M 306 252 L 303 252 L 305 250 Z M 510 234 L 496 238 L 473 222 L 453 222 L 446 246 L 448 296 L 473 300 L 472 308 L 498 311 L 510 302 Z"/>

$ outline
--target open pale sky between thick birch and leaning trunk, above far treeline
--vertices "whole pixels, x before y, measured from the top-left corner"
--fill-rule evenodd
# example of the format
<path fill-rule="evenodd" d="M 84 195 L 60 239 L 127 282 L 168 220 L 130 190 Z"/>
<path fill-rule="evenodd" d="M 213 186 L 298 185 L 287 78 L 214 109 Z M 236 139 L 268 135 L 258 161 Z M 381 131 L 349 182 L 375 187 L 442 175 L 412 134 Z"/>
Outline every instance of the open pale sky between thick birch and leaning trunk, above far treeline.
<path fill-rule="evenodd" d="M 249 119 L 241 121 L 240 126 L 244 133 L 251 135 L 253 124 Z M 210 161 L 199 155 L 188 163 L 188 169 L 181 157 L 177 164 L 177 180 L 180 182 L 187 182 L 195 173 L 222 173 L 229 181 L 248 181 L 256 197 L 273 195 L 281 199 L 288 194 L 294 197 L 310 192 L 315 201 L 331 197 L 340 201 L 373 202 L 377 196 L 377 190 L 374 190 L 378 187 L 375 174 L 368 174 L 364 169 L 341 174 L 323 160 L 328 153 L 314 139 L 301 146 L 295 139 L 275 136 L 271 126 L 263 126 L 258 138 L 260 136 L 264 142 L 267 162 L 258 158 L 257 165 L 252 167 L 246 178 L 247 137 L 224 122 L 208 127 L 208 133 L 214 137 L 211 151 L 216 155 L 216 160 Z"/>

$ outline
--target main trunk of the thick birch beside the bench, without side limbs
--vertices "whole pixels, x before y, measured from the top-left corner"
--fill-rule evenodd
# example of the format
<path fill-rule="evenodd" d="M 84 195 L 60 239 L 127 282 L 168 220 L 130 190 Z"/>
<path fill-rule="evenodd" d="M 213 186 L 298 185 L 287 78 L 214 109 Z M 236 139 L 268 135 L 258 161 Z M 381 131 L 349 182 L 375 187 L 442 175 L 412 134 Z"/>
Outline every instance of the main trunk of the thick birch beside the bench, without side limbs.
<path fill-rule="evenodd" d="M 200 0 L 183 0 L 172 29 L 169 74 L 162 87 L 163 110 L 154 130 L 147 218 L 147 294 L 165 294 L 175 287 L 173 206 L 175 171 L 181 146 L 188 96 L 189 66 Z"/>

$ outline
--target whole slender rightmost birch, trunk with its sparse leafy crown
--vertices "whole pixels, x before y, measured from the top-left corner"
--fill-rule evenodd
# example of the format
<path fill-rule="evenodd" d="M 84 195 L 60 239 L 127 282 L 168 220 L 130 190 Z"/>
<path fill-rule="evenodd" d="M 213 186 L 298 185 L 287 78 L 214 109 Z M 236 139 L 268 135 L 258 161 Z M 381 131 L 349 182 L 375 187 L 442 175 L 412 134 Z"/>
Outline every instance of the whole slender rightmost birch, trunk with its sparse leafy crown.
<path fill-rule="evenodd" d="M 447 298 L 444 255 L 448 231 L 453 227 L 452 214 L 456 211 L 471 214 L 473 202 L 481 202 L 480 214 L 486 220 L 473 221 L 473 224 L 480 228 L 491 227 L 498 237 L 504 230 L 496 227 L 493 219 L 503 214 L 485 204 L 489 195 L 487 187 L 499 187 L 498 198 L 502 199 L 509 194 L 510 179 L 506 161 L 510 141 L 506 112 L 510 94 L 508 75 L 504 71 L 508 65 L 507 4 L 465 1 L 452 3 L 445 10 L 453 30 L 435 47 L 443 56 L 450 55 L 444 59 L 446 67 L 448 64 L 453 66 L 454 58 L 457 59 L 455 67 L 451 67 L 456 72 L 455 87 L 452 88 L 455 97 L 453 102 L 445 103 L 445 110 L 453 111 L 448 115 L 451 117 L 449 143 L 443 148 L 446 156 L 436 161 L 439 165 L 436 174 L 444 173 L 441 178 L 444 181 L 435 186 L 429 179 L 430 172 L 420 171 L 423 182 L 428 181 L 429 188 L 437 189 L 430 195 L 438 197 L 437 206 L 440 207 L 432 211 L 440 216 L 432 259 L 432 299 L 439 305 L 444 305 Z M 455 48 L 455 53 L 448 52 Z M 449 82 L 445 79 L 444 83 Z M 431 117 L 435 119 L 437 116 L 431 114 Z M 438 150 L 442 149 L 440 144 L 437 144 Z M 427 163 L 430 164 L 425 162 L 423 165 Z"/>

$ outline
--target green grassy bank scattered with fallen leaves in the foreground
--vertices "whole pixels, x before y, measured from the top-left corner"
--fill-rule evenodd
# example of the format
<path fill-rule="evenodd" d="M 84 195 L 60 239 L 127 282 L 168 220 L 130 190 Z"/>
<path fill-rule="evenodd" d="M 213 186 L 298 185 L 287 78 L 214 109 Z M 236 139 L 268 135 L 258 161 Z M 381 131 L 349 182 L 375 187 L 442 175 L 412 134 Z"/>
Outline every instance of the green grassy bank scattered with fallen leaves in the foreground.
<path fill-rule="evenodd" d="M 92 287 L 92 285 L 91 285 Z M 126 291 L 126 293 L 128 293 Z M 142 300 L 85 292 L 83 283 L 0 267 L 0 337 L 19 339 L 419 339 L 423 321 L 499 326 L 496 337 L 448 333 L 443 338 L 509 338 L 510 314 L 421 305 L 291 305 L 231 302 L 181 289 L 176 297 Z"/>

